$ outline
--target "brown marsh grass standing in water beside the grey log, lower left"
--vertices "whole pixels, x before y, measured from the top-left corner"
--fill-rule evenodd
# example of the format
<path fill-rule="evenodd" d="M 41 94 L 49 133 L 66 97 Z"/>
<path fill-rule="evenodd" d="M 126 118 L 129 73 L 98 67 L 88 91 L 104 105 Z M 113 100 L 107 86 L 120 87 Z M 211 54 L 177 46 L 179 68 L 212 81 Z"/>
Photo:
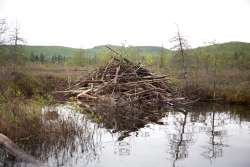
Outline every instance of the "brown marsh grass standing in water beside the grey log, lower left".
<path fill-rule="evenodd" d="M 81 115 L 62 116 L 56 107 L 17 100 L 1 104 L 0 120 L 0 133 L 42 161 L 56 157 L 63 164 L 67 161 L 63 156 L 98 156 L 96 129 Z"/>

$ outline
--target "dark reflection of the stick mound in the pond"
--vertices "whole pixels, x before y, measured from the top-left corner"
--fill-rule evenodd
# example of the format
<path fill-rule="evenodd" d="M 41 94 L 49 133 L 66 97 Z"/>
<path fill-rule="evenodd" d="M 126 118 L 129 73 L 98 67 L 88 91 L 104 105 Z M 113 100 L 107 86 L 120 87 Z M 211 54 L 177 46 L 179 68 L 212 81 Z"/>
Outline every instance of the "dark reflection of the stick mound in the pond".
<path fill-rule="evenodd" d="M 110 106 L 107 104 L 95 104 L 90 111 L 83 110 L 89 119 L 101 127 L 110 130 L 111 133 L 118 133 L 118 140 L 130 136 L 149 123 L 157 123 L 165 115 L 163 109 L 154 108 L 143 110 L 133 105 Z M 93 111 L 94 110 L 94 111 Z"/>

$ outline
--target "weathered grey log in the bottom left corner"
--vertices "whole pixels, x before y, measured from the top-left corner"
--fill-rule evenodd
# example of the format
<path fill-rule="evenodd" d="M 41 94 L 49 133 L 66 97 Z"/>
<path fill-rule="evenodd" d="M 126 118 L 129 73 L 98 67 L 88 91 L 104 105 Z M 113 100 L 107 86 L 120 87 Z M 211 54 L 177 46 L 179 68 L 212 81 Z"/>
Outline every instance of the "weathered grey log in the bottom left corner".
<path fill-rule="evenodd" d="M 3 149 L 5 149 L 10 155 L 14 156 L 18 160 L 30 163 L 33 166 L 37 167 L 44 166 L 42 162 L 36 160 L 33 156 L 26 154 L 13 141 L 11 141 L 7 136 L 1 133 L 0 133 L 0 146 L 2 146 Z"/>

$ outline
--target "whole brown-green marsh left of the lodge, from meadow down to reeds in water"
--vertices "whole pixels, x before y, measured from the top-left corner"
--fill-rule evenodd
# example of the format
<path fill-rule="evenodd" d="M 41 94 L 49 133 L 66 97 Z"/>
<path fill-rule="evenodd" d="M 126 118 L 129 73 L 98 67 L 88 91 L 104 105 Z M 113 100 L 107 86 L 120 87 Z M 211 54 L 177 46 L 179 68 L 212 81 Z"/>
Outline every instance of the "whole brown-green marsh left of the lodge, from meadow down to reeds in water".
<path fill-rule="evenodd" d="M 78 69 L 49 64 L 1 67 L 0 133 L 40 160 L 48 159 L 51 152 L 74 149 L 76 138 L 87 141 L 81 135 L 92 132 L 80 127 L 72 116 L 60 116 L 54 104 L 58 97 L 53 92 L 66 89 L 79 78 L 82 72 Z"/>

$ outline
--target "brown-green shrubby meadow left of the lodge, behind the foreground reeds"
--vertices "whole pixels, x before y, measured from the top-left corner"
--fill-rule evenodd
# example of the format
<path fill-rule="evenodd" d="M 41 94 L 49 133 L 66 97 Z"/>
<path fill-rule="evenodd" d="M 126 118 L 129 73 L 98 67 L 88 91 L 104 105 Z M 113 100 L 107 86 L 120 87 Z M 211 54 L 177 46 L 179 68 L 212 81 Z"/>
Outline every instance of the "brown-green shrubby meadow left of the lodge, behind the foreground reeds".
<path fill-rule="evenodd" d="M 53 100 L 54 91 L 66 89 L 87 73 L 83 68 L 61 65 L 5 65 L 0 68 L 0 103 L 13 99 Z"/>

